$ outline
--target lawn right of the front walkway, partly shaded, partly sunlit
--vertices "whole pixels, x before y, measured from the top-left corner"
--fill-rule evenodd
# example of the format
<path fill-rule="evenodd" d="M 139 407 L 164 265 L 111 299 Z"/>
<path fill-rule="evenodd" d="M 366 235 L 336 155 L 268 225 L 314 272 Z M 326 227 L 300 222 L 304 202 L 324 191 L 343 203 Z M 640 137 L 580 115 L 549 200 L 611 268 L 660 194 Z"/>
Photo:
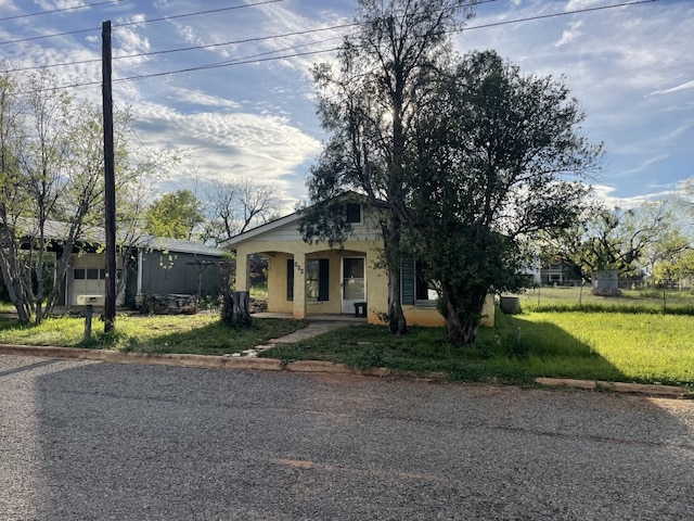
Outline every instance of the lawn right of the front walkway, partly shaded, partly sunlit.
<path fill-rule="evenodd" d="M 393 336 L 382 326 L 345 328 L 261 356 L 356 367 L 442 371 L 453 380 L 530 383 L 537 377 L 694 385 L 694 318 L 620 313 L 497 314 L 474 346 L 440 328 Z"/>

